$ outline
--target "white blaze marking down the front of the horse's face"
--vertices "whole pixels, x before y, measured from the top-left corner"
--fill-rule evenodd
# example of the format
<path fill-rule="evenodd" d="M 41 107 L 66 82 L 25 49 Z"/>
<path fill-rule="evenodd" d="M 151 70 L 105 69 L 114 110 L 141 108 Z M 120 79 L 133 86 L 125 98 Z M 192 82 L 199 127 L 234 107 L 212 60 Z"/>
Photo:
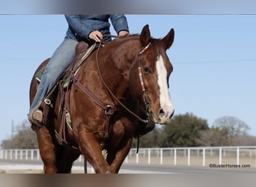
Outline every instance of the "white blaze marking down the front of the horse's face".
<path fill-rule="evenodd" d="M 167 70 L 162 59 L 162 55 L 159 55 L 158 60 L 156 61 L 156 71 L 158 75 L 158 85 L 160 88 L 160 106 L 165 111 L 168 112 L 168 117 L 173 113 L 174 107 L 171 104 L 171 96 L 168 91 L 167 84 Z"/>

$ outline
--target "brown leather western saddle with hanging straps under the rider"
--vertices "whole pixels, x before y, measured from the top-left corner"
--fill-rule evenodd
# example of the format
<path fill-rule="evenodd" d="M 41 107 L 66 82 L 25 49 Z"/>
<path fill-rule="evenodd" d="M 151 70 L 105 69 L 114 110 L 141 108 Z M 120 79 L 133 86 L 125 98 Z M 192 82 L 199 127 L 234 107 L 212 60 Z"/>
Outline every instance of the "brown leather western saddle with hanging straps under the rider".
<path fill-rule="evenodd" d="M 43 125 L 45 125 L 49 123 L 49 112 L 54 107 L 57 93 L 59 93 L 60 102 L 58 105 L 58 112 L 61 117 L 61 126 L 58 129 L 58 132 L 55 129 L 55 135 L 56 138 L 58 138 L 59 144 L 62 144 L 63 141 L 67 143 L 65 138 L 65 125 L 67 124 L 67 127 L 70 130 L 73 130 L 70 120 L 70 114 L 68 111 L 69 106 L 67 106 L 64 102 L 65 97 L 68 95 L 67 93 L 69 92 L 70 85 L 72 84 L 72 76 L 76 75 L 76 73 L 79 71 L 79 67 L 81 66 L 81 64 L 85 61 L 86 58 L 88 58 L 89 55 L 91 55 L 91 52 L 97 49 L 97 47 L 97 43 L 94 43 L 91 47 L 88 47 L 88 44 L 84 41 L 81 41 L 76 45 L 76 58 L 64 70 L 64 72 L 61 73 L 61 76 L 58 77 L 55 84 L 50 89 L 49 93 L 47 93 L 44 97 L 44 102 L 42 102 L 41 104 L 41 108 L 43 108 Z M 36 73 L 35 79 L 37 79 L 38 82 L 40 82 L 40 80 L 42 79 L 44 71 L 45 67 L 42 67 Z"/>

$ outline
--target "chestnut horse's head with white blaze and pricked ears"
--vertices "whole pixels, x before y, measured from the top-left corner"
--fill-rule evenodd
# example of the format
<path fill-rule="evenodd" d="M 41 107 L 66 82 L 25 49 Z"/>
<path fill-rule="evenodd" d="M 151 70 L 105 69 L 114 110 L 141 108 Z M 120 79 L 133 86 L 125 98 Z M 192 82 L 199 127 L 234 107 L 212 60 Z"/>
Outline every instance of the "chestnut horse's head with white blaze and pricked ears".
<path fill-rule="evenodd" d="M 148 25 L 145 25 L 139 40 L 141 51 L 130 70 L 129 90 L 141 102 L 141 110 L 148 115 L 150 122 L 170 123 L 174 106 L 168 91 L 168 79 L 173 67 L 166 50 L 174 41 L 174 29 L 171 28 L 162 39 L 153 39 Z"/>

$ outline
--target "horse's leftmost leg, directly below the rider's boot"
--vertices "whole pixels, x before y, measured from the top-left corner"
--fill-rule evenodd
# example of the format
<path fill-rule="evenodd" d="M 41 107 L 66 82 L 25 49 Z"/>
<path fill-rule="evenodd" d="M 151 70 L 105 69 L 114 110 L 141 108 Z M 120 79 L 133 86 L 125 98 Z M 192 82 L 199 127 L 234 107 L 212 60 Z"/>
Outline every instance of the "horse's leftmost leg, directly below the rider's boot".
<path fill-rule="evenodd" d="M 55 145 L 52 142 L 52 136 L 46 126 L 34 129 L 37 134 L 38 147 L 40 156 L 43 160 L 43 171 L 46 174 L 57 173 L 55 162 Z"/>

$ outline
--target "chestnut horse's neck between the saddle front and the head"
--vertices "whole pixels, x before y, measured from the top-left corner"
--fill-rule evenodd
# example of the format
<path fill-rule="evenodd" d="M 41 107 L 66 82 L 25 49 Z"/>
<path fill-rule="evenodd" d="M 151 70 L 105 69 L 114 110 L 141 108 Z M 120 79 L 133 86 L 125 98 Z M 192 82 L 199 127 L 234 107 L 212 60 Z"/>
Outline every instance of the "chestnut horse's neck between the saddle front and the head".
<path fill-rule="evenodd" d="M 123 41 L 124 40 L 124 41 Z M 113 41 L 106 46 L 106 61 L 100 64 L 100 72 L 115 96 L 124 97 L 129 88 L 129 72 L 140 50 L 137 37 Z M 110 52 L 111 51 L 111 52 Z"/>

